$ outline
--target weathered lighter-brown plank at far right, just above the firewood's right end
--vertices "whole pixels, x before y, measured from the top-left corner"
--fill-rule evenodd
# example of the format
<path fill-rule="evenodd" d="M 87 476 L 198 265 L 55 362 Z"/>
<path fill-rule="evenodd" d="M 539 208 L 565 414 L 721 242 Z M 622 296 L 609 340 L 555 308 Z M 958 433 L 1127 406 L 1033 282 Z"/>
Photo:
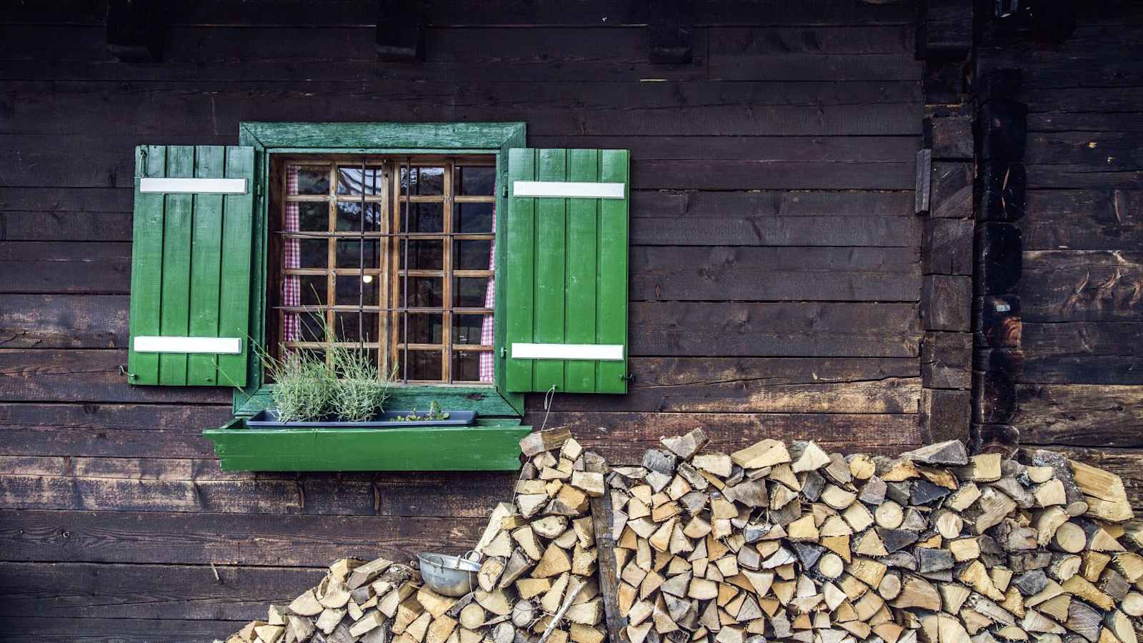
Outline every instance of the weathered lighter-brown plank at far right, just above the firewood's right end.
<path fill-rule="evenodd" d="M 1143 447 L 1143 387 L 1021 384 L 1014 420 L 1021 442 Z"/>

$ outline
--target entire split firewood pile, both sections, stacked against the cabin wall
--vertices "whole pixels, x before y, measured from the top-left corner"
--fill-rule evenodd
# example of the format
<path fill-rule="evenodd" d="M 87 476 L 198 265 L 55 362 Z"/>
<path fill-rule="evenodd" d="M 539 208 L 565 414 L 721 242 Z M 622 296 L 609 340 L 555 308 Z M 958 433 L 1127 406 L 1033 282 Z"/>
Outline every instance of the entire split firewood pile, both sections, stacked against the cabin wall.
<path fill-rule="evenodd" d="M 227 643 L 1137 643 L 1143 527 L 1117 476 L 957 440 L 662 445 L 608 469 L 567 430 L 529 435 L 472 592 L 342 559 Z"/>

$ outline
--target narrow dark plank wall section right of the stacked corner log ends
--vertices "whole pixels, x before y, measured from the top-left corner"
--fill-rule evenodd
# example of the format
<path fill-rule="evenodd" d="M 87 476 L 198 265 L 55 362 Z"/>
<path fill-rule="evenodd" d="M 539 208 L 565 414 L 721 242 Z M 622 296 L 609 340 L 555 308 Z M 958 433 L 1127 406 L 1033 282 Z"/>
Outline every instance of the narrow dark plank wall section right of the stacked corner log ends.
<path fill-rule="evenodd" d="M 1143 6 L 978 55 L 1023 70 L 1029 109 L 1021 443 L 1114 470 L 1143 507 Z"/>

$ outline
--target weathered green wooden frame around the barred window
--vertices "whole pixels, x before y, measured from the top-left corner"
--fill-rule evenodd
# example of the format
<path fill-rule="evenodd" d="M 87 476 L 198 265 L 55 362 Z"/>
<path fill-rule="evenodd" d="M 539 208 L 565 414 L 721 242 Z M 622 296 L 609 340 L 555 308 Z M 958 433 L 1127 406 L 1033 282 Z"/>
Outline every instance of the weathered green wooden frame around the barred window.
<path fill-rule="evenodd" d="M 496 159 L 496 211 L 507 212 L 509 149 L 523 148 L 523 122 L 242 122 L 239 144 L 254 148 L 254 254 L 251 265 L 249 336 L 261 346 L 266 341 L 269 303 L 267 256 L 270 235 L 269 180 L 273 154 L 353 153 L 353 154 L 463 154 L 480 153 Z M 497 216 L 496 238 L 505 238 L 506 216 Z M 394 387 L 393 408 L 427 408 L 438 400 L 446 408 L 477 411 L 483 418 L 520 418 L 523 394 L 505 390 L 505 293 L 506 244 L 496 244 L 495 288 L 495 375 L 494 387 L 424 384 Z M 234 415 L 250 416 L 269 408 L 272 383 L 263 381 L 257 359 L 249 359 L 247 383 L 234 389 Z"/>

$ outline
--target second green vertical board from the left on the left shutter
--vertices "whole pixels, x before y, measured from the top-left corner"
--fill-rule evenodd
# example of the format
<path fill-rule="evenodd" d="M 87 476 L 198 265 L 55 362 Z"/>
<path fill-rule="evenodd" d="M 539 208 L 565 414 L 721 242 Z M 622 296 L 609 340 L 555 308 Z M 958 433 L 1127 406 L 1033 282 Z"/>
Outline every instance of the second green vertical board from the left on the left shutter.
<path fill-rule="evenodd" d="M 194 176 L 194 148 L 167 148 L 167 176 Z M 162 221 L 162 295 L 159 304 L 159 334 L 186 336 L 191 318 L 191 219 L 192 195 L 166 195 Z M 159 355 L 159 383 L 186 386 L 186 355 Z"/>

